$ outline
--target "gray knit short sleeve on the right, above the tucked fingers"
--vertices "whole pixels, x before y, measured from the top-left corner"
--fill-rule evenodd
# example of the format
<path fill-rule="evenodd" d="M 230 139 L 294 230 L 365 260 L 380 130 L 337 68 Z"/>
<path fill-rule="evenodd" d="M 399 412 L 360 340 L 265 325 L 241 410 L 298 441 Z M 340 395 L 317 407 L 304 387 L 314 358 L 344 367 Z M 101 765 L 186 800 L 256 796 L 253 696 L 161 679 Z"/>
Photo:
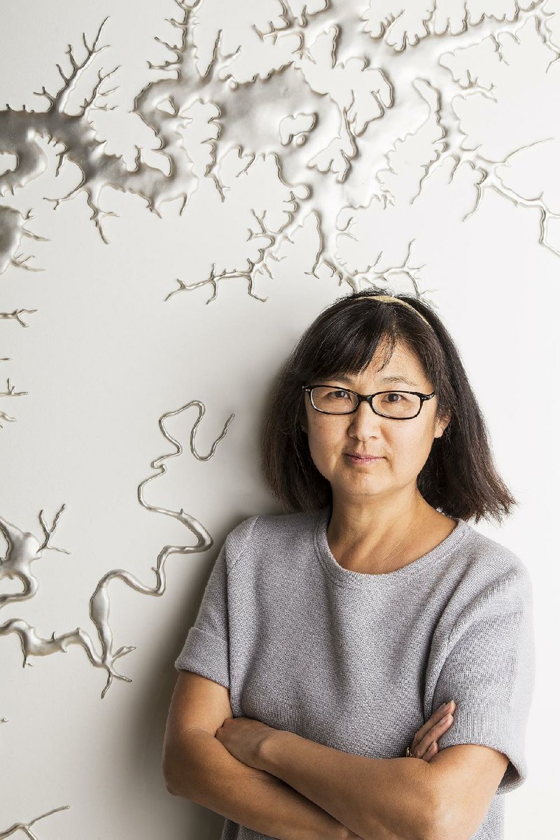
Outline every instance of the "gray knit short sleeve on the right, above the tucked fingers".
<path fill-rule="evenodd" d="M 432 711 L 454 700 L 453 724 L 440 750 L 477 743 L 510 763 L 498 795 L 526 780 L 526 724 L 535 680 L 532 585 L 521 560 L 486 585 L 463 609 L 447 638 Z"/>

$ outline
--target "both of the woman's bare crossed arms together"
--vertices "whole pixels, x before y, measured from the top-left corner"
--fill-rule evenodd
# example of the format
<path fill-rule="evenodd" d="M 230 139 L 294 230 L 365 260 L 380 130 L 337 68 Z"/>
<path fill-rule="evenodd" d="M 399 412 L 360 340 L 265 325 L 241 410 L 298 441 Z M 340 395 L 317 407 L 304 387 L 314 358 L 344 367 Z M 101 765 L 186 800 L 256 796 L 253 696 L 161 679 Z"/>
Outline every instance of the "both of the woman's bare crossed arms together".
<path fill-rule="evenodd" d="M 223 715 L 227 690 L 174 695 L 165 732 L 168 790 L 280 840 L 468 840 L 488 811 L 507 756 L 460 744 L 422 759 L 369 759 Z M 209 695 L 224 705 L 212 709 Z M 231 714 L 231 711 L 230 711 Z M 219 723 L 222 723 L 219 726 Z M 217 728 L 218 726 L 218 728 Z"/>

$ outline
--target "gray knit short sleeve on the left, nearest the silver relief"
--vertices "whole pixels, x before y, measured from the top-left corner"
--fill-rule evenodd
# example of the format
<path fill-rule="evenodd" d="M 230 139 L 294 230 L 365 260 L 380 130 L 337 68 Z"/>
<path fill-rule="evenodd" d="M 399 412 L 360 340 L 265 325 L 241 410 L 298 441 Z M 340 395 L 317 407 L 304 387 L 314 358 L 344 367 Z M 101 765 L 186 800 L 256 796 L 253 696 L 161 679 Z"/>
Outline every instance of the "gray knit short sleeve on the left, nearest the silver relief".
<path fill-rule="evenodd" d="M 194 671 L 229 688 L 228 577 L 257 517 L 228 533 L 208 578 L 195 623 L 186 636 L 175 670 Z"/>

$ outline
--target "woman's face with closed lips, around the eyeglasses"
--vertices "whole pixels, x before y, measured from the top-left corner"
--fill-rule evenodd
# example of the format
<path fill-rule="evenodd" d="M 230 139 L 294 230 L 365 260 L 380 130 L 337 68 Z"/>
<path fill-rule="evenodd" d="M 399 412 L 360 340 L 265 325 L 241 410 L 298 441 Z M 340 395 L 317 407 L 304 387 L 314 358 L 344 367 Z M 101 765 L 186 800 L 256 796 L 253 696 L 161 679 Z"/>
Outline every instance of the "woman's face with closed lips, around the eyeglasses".
<path fill-rule="evenodd" d="M 381 353 L 359 375 L 328 378 L 322 385 L 350 388 L 360 394 L 376 391 L 420 391 L 431 394 L 421 362 L 405 344 L 396 344 L 383 370 Z M 315 383 L 311 383 L 315 384 Z M 317 382 L 317 384 L 319 384 Z M 311 407 L 305 393 L 307 437 L 317 470 L 330 481 L 332 495 L 380 496 L 399 489 L 416 489 L 416 478 L 427 461 L 434 438 L 448 420 L 436 422 L 437 396 L 423 402 L 420 414 L 408 420 L 379 417 L 367 402 L 353 414 L 323 414 Z M 352 459 L 349 454 L 377 455 L 379 460 Z"/>

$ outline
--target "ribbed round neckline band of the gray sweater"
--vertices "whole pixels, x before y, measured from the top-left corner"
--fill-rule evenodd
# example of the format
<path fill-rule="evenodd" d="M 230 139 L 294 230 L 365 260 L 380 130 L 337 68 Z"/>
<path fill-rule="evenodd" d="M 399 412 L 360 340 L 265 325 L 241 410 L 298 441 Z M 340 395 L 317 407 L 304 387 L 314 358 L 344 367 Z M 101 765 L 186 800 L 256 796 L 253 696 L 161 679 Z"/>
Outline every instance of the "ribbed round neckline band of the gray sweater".
<path fill-rule="evenodd" d="M 330 520 L 331 507 L 327 505 L 322 507 L 317 513 L 315 528 L 313 529 L 313 543 L 318 559 L 327 575 L 338 585 L 350 587 L 379 587 L 384 585 L 393 585 L 395 583 L 402 583 L 409 580 L 422 571 L 427 570 L 433 564 L 446 558 L 449 554 L 457 548 L 458 544 L 462 542 L 467 533 L 471 530 L 470 525 L 466 520 L 460 517 L 452 517 L 457 525 L 453 531 L 447 535 L 441 543 L 427 554 L 422 554 L 416 560 L 406 564 L 401 569 L 392 572 L 356 572 L 345 569 L 332 554 L 330 546 L 327 541 L 327 526 Z"/>

